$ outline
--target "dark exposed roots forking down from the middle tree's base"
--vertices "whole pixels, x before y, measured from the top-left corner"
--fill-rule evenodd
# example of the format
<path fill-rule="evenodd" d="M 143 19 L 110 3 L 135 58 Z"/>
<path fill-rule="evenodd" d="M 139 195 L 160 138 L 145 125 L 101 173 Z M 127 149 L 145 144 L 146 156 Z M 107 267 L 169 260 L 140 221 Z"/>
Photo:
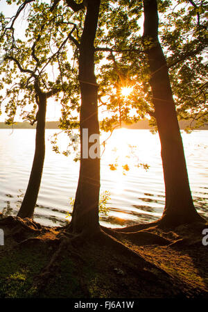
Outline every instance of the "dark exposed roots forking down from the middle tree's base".
<path fill-rule="evenodd" d="M 86 233 L 80 233 L 74 236 L 69 233 L 68 235 L 70 236 L 70 238 L 66 238 L 66 236 L 64 236 L 64 234 L 62 233 L 61 238 L 59 238 L 60 243 L 58 249 L 56 250 L 55 254 L 53 254 L 51 261 L 49 261 L 49 264 L 46 265 L 44 270 L 42 270 L 42 273 L 35 277 L 35 287 L 38 289 L 39 292 L 42 290 L 42 288 L 44 288 L 47 281 L 49 281 L 49 279 L 53 276 L 55 270 L 58 268 L 58 263 L 60 262 L 60 258 L 63 252 L 66 252 L 66 250 L 68 250 L 69 254 L 76 257 L 76 259 L 78 261 L 81 261 L 83 265 L 85 261 L 77 252 L 77 250 L 83 244 L 85 244 L 85 246 L 89 245 L 91 241 L 94 244 L 98 244 L 99 246 L 102 245 L 103 247 L 105 246 L 112 249 L 114 254 L 122 254 L 122 256 L 125 256 L 128 259 L 132 259 L 134 263 L 137 263 L 138 274 L 142 278 L 146 278 L 149 281 L 155 281 L 155 279 L 158 279 L 158 275 L 161 276 L 162 274 L 164 278 L 168 280 L 171 279 L 171 277 L 164 270 L 158 268 L 153 263 L 146 261 L 133 249 L 130 249 L 129 247 L 121 243 L 121 241 L 110 236 L 110 234 L 107 234 L 102 230 L 98 233 L 95 233 L 94 236 L 91 237 L 87 237 Z M 126 265 L 128 265 L 128 263 L 126 263 Z"/>

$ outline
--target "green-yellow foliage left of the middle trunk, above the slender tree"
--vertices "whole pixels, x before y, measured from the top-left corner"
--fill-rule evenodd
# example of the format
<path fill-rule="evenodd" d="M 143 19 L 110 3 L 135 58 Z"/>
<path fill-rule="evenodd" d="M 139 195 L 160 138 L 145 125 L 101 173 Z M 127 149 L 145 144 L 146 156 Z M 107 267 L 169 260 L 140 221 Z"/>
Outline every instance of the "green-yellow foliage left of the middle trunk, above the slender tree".
<path fill-rule="evenodd" d="M 5 94 L 1 95 L 1 103 L 6 105 L 8 124 L 14 122 L 18 108 L 23 120 L 35 122 L 35 79 L 42 92 L 51 92 L 62 105 L 61 129 L 69 130 L 77 122 L 77 117 L 71 116 L 79 100 L 77 70 L 67 56 L 70 48 L 67 33 L 71 31 L 71 24 L 62 23 L 64 14 L 69 12 L 62 13 L 61 6 L 51 10 L 48 3 L 32 1 L 21 34 L 15 31 L 15 17 L 8 19 L 1 15 L 0 44 L 4 62 L 0 74 Z"/>

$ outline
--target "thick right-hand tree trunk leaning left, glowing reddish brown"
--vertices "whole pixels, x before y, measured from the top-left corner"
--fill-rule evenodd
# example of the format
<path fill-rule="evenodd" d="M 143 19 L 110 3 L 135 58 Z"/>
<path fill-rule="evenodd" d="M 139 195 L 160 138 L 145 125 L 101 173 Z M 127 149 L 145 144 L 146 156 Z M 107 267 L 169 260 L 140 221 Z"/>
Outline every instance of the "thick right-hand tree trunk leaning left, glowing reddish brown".
<path fill-rule="evenodd" d="M 202 220 L 193 206 L 168 68 L 158 40 L 157 0 L 144 0 L 143 39 L 162 147 L 166 204 L 161 221 L 166 225 L 177 225 Z"/>

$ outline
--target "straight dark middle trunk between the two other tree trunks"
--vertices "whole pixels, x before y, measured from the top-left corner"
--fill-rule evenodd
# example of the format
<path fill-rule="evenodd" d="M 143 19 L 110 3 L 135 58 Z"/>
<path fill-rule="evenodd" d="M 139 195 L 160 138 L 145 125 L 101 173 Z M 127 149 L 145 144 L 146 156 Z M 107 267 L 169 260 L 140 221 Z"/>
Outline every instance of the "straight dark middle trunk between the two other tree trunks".
<path fill-rule="evenodd" d="M 80 135 L 81 159 L 80 175 L 76 199 L 73 206 L 70 229 L 73 232 L 95 233 L 99 230 L 98 203 L 100 191 L 100 159 L 83 158 L 83 129 L 88 129 L 88 154 L 94 144 L 89 136 L 99 135 L 98 85 L 94 74 L 94 39 L 98 23 L 100 0 L 87 0 L 87 13 L 83 35 L 80 41 L 79 79 L 81 92 Z M 86 142 L 85 142 L 86 143 Z M 86 151 L 84 151 L 86 154 Z"/>

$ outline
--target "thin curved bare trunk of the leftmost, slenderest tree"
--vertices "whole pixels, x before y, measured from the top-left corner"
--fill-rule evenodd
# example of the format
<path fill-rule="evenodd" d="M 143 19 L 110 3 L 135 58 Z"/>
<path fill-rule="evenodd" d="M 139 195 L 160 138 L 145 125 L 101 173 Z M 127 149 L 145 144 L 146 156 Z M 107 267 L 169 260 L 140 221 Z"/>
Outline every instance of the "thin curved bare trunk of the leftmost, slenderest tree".
<path fill-rule="evenodd" d="M 18 217 L 33 218 L 37 195 L 40 189 L 42 179 L 42 170 L 45 156 L 45 120 L 46 120 L 46 95 L 44 93 L 38 96 L 37 128 L 35 137 L 35 155 L 33 158 L 33 167 L 28 181 L 26 194 L 17 214 Z"/>

